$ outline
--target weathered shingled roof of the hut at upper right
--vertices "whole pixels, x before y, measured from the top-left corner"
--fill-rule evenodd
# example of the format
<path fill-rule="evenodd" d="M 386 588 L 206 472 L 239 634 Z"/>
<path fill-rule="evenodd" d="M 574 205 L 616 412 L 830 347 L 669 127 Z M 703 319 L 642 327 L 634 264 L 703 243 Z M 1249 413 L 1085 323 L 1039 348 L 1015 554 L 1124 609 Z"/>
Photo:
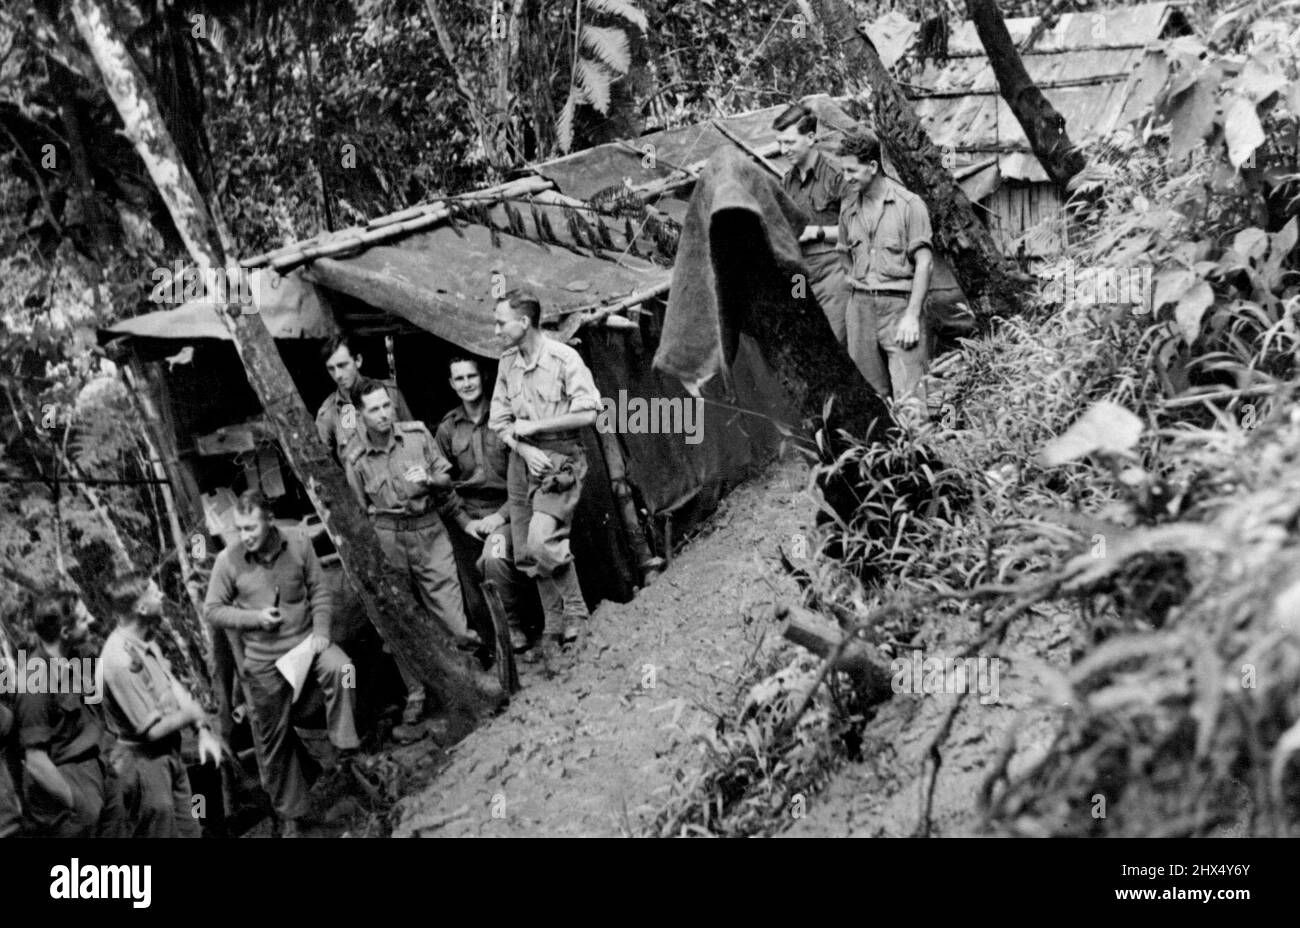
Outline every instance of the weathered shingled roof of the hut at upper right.
<path fill-rule="evenodd" d="M 1011 40 L 1023 43 L 1037 22 L 1037 17 L 1008 19 Z M 887 65 L 909 47 L 918 27 L 898 13 L 864 23 Z M 1066 13 L 1020 57 L 1044 96 L 1065 117 L 1070 139 L 1080 143 L 1114 130 L 1149 105 L 1160 81 L 1149 47 L 1184 27 L 1180 13 L 1169 3 Z M 993 155 L 1000 177 L 1048 179 L 1019 121 L 998 94 L 974 23 L 956 23 L 948 38 L 948 60 L 939 65 L 926 61 L 909 84 L 916 114 L 935 144 L 957 155 L 958 170 Z"/>

